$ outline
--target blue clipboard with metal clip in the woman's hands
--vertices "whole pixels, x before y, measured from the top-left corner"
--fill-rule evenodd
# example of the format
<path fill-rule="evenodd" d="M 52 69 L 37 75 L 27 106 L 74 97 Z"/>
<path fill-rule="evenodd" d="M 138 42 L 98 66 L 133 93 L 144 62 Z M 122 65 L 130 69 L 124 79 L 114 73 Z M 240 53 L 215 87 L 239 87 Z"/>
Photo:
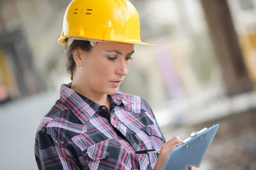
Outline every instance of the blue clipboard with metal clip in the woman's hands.
<path fill-rule="evenodd" d="M 217 124 L 209 129 L 205 127 L 197 132 L 192 132 L 172 151 L 163 170 L 190 170 L 192 166 L 199 168 L 218 127 Z"/>

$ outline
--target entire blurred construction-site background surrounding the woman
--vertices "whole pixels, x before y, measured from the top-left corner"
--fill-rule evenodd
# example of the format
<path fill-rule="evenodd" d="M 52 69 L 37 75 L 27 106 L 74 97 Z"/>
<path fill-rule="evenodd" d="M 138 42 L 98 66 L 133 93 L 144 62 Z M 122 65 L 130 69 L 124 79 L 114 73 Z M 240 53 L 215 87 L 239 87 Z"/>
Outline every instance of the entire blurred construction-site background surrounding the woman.
<path fill-rule="evenodd" d="M 71 0 L 0 0 L 0 169 L 35 170 L 42 117 L 70 82 L 57 44 Z M 256 170 L 256 0 L 131 0 L 143 42 L 119 91 L 166 140 L 219 124 L 201 170 Z"/>

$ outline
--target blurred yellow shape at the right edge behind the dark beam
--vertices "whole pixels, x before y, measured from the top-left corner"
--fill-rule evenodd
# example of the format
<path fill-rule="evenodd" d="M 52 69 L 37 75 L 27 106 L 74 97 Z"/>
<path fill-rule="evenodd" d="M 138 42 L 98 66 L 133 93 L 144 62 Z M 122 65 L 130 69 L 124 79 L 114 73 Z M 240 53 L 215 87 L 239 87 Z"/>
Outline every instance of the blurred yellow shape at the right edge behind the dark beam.
<path fill-rule="evenodd" d="M 256 32 L 241 34 L 239 38 L 249 77 L 256 88 Z"/>

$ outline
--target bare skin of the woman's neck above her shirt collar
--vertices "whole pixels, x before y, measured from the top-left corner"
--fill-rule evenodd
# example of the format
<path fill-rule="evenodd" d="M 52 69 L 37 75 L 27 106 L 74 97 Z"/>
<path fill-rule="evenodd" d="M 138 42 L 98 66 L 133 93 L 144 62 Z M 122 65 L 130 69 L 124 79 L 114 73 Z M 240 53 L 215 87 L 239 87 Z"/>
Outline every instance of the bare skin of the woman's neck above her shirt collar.
<path fill-rule="evenodd" d="M 99 105 L 105 105 L 108 107 L 111 103 L 111 99 L 108 97 L 107 94 L 102 94 L 97 91 L 93 91 L 84 85 L 82 86 L 75 82 L 72 82 L 71 89 L 87 97 L 88 99 L 91 99 L 93 102 L 96 102 Z"/>

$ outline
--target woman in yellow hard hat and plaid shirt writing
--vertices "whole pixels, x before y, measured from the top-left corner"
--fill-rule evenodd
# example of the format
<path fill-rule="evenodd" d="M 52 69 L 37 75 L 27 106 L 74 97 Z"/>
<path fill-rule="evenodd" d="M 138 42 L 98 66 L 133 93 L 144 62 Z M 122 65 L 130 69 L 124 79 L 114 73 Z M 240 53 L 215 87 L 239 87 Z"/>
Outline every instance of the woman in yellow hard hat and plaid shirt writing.
<path fill-rule="evenodd" d="M 38 168 L 162 170 L 181 140 L 165 143 L 148 103 L 117 92 L 134 44 L 150 45 L 140 41 L 134 6 L 128 0 L 73 0 L 58 43 L 64 45 L 72 83 L 61 86 L 60 99 L 38 127 Z"/>

